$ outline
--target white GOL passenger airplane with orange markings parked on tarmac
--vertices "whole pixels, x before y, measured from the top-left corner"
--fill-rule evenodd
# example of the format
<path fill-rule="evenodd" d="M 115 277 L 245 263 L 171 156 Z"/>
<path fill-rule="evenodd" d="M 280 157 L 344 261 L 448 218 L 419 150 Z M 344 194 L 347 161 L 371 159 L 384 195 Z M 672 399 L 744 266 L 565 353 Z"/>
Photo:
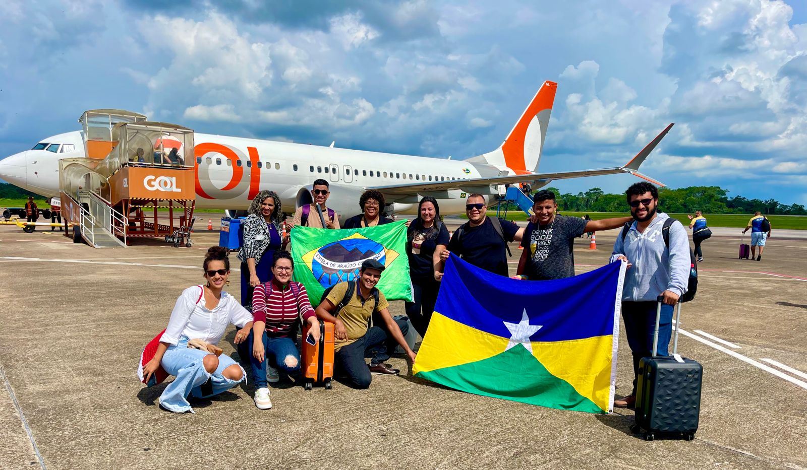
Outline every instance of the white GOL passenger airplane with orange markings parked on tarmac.
<path fill-rule="evenodd" d="M 490 205 L 508 185 L 529 183 L 537 189 L 553 180 L 621 173 L 663 185 L 638 170 L 673 124 L 621 167 L 537 173 L 557 86 L 545 81 L 500 147 L 467 160 L 194 133 L 196 207 L 244 214 L 259 190 L 271 189 L 284 212 L 291 213 L 312 202 L 310 189 L 317 178 L 328 181 L 328 207 L 340 218 L 361 213 L 358 200 L 366 189 L 384 194 L 388 214 L 416 214 L 417 202 L 426 195 L 438 200 L 441 214 L 463 214 L 466 194 L 482 193 Z M 0 178 L 58 197 L 58 160 L 83 156 L 83 131 L 53 135 L 0 160 Z"/>

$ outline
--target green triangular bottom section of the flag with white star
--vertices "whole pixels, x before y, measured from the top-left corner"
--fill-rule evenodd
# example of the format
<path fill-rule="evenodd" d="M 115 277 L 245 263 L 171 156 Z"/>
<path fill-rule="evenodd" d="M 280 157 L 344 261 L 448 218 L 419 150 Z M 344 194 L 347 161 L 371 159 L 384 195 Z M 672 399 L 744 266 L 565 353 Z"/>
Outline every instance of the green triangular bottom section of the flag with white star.
<path fill-rule="evenodd" d="M 416 376 L 486 397 L 561 410 L 604 412 L 593 401 L 577 393 L 567 381 L 547 371 L 521 344 L 487 359 L 418 372 Z"/>

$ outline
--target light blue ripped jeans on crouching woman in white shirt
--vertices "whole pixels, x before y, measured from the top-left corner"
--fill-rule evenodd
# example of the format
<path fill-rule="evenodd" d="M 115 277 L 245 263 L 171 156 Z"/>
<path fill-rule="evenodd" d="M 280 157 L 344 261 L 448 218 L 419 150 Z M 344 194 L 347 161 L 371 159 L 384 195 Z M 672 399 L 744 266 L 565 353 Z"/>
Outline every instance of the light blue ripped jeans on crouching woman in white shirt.
<path fill-rule="evenodd" d="M 169 346 L 162 356 L 160 364 L 165 372 L 175 376 L 171 382 L 160 395 L 160 405 L 166 410 L 173 411 L 174 413 L 185 413 L 186 411 L 194 412 L 190 407 L 187 397 L 193 395 L 197 398 L 207 398 L 213 395 L 218 395 L 228 389 L 232 389 L 241 381 L 245 380 L 246 374 L 244 369 L 241 368 L 240 381 L 231 381 L 222 375 L 225 368 L 232 364 L 237 364 L 236 361 L 230 359 L 230 356 L 222 354 L 219 356 L 219 367 L 215 372 L 207 372 L 204 368 L 204 356 L 211 354 L 207 351 L 199 349 L 192 349 L 188 347 L 188 338 L 182 336 L 176 346 Z M 240 367 L 240 366 L 239 366 Z M 203 393 L 202 385 L 210 380 L 213 385 L 212 393 Z"/>

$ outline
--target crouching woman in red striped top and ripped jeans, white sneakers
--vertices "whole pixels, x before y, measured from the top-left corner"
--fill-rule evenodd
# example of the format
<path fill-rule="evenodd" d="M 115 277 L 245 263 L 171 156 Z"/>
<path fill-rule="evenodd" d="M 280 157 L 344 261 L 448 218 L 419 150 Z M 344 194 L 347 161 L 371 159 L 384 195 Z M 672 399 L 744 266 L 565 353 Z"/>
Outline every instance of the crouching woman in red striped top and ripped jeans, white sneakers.
<path fill-rule="evenodd" d="M 253 292 L 254 323 L 248 342 L 253 345 L 253 355 L 249 359 L 255 377 L 255 406 L 261 410 L 272 407 L 267 382 L 280 380 L 278 369 L 286 374 L 300 370 L 300 353 L 295 345 L 300 318 L 317 326 L 312 328 L 312 335 L 320 340 L 319 322 L 305 287 L 291 281 L 294 266 L 289 252 L 276 252 L 272 280 L 258 285 Z"/>

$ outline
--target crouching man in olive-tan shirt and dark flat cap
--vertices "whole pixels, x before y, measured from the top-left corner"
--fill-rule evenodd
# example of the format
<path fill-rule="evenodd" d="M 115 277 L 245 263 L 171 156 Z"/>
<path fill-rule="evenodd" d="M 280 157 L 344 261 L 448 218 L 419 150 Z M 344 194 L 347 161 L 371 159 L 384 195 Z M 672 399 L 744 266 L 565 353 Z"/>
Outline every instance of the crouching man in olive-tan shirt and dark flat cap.
<path fill-rule="evenodd" d="M 388 351 L 393 351 L 396 344 L 403 347 L 412 362 L 415 361 L 415 352 L 409 348 L 406 339 L 403 339 L 408 331 L 406 320 L 395 322 L 392 319 L 388 310 L 389 303 L 380 291 L 378 305 L 375 305 L 373 289 L 383 270 L 384 265 L 378 261 L 366 260 L 362 263 L 353 297 L 341 311 L 334 312 L 348 291 L 348 282 L 334 285 L 328 297 L 316 307 L 316 316 L 334 325 L 334 365 L 345 373 L 349 384 L 357 389 L 370 387 L 372 374 L 396 375 L 399 372 L 384 362 L 389 360 Z M 383 321 L 383 325 L 368 328 L 373 311 L 378 312 L 377 318 Z M 368 353 L 372 354 L 370 366 L 364 360 Z"/>

